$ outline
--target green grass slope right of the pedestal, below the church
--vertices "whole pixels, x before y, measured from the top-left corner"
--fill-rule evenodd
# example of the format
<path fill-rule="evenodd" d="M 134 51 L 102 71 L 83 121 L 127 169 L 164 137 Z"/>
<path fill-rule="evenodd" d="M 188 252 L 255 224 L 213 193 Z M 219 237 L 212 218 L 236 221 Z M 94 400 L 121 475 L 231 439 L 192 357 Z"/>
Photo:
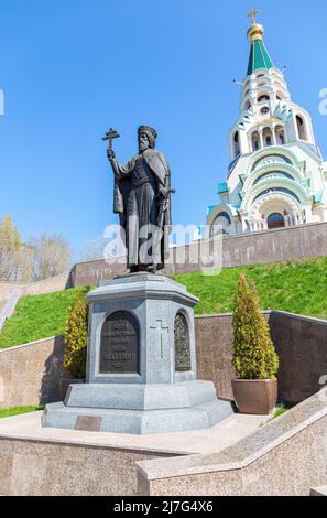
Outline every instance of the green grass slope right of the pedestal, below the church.
<path fill-rule="evenodd" d="M 262 310 L 327 319 L 327 257 L 228 268 L 212 277 L 186 273 L 175 279 L 200 299 L 196 314 L 229 313 L 241 272 L 255 282 Z"/>

